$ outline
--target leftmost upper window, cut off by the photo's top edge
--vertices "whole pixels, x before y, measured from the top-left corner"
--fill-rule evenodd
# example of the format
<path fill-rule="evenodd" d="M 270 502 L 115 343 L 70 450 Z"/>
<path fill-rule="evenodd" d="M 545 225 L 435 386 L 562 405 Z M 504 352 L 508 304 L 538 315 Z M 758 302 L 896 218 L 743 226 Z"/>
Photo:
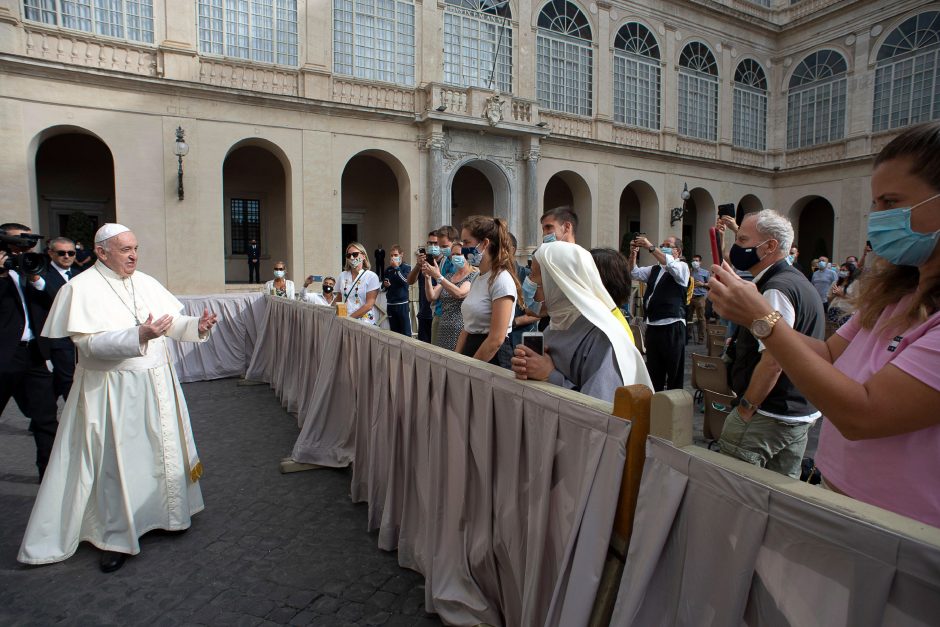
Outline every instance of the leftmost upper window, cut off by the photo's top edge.
<path fill-rule="evenodd" d="M 94 4 L 94 6 L 92 6 Z M 153 0 L 23 0 L 27 20 L 105 37 L 153 43 Z"/>

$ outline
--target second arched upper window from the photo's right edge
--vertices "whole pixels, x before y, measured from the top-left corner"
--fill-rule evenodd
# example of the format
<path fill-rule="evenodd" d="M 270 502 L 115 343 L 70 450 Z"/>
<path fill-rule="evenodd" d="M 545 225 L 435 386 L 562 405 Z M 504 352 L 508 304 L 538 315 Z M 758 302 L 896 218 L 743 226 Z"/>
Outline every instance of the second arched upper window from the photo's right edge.
<path fill-rule="evenodd" d="M 787 95 L 787 148 L 825 144 L 845 137 L 848 66 L 835 50 L 819 50 L 800 61 Z"/>

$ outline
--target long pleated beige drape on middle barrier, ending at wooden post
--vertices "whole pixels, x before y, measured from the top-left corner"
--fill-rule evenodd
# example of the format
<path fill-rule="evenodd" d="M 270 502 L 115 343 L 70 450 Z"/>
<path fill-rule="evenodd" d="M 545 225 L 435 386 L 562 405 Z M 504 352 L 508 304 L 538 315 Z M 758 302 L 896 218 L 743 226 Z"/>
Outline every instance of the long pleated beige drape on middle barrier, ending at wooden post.
<path fill-rule="evenodd" d="M 298 407 L 295 460 L 353 465 L 366 528 L 424 574 L 428 611 L 587 624 L 630 429 L 608 403 L 271 298 L 249 375 Z"/>

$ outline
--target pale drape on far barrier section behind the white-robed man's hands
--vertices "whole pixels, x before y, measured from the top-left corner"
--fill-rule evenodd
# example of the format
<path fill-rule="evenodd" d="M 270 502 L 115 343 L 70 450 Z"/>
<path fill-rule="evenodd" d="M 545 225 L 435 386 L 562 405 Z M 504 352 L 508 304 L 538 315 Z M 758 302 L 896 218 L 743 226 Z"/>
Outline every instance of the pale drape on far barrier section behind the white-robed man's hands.
<path fill-rule="evenodd" d="M 208 308 L 218 315 L 211 342 L 168 341 L 170 359 L 183 383 L 245 374 L 264 318 L 265 300 L 255 294 L 177 296 L 183 314 L 199 317 Z"/>

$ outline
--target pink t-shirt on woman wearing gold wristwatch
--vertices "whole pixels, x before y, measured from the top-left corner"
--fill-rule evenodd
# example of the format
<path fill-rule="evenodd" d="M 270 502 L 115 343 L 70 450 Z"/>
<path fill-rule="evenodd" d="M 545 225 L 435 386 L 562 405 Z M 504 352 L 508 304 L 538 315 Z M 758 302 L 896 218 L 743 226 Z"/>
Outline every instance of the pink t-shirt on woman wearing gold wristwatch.
<path fill-rule="evenodd" d="M 879 323 L 908 302 L 886 307 Z M 863 329 L 856 315 L 838 334 L 849 345 L 835 367 L 855 381 L 864 383 L 890 363 L 940 390 L 940 312 L 900 335 Z M 823 477 L 849 496 L 940 527 L 940 425 L 853 442 L 826 420 L 816 457 Z"/>

